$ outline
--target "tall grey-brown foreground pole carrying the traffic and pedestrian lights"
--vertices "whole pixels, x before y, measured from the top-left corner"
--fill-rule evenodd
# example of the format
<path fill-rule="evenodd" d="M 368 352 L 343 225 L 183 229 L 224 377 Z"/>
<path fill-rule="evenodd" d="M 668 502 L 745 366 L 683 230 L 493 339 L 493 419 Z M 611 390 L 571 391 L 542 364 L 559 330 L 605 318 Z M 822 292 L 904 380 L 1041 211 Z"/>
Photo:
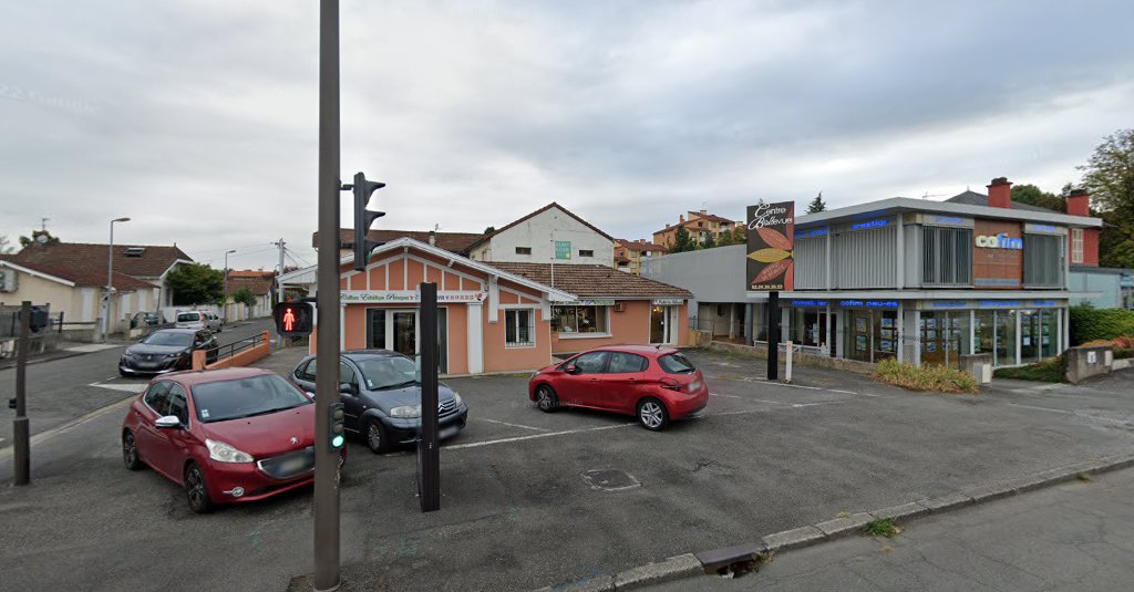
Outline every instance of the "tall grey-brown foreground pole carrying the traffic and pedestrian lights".
<path fill-rule="evenodd" d="M 339 2 L 319 9 L 319 333 L 321 365 L 339 360 Z M 330 441 L 330 405 L 339 400 L 339 373 L 315 375 L 315 580 L 319 592 L 339 587 L 338 450 Z"/>

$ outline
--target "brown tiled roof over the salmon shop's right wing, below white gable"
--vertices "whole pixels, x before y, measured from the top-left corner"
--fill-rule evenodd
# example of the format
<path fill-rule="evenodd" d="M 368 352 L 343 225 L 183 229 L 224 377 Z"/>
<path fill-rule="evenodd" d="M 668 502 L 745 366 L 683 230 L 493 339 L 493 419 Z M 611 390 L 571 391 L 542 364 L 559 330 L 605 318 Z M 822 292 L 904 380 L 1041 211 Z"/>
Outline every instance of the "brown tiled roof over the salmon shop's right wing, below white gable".
<path fill-rule="evenodd" d="M 629 298 L 693 297 L 693 294 L 684 288 L 633 276 L 606 265 L 555 265 L 555 284 L 552 284 L 551 263 L 503 263 L 491 261 L 485 263 L 501 271 L 538 281 L 544 286 L 566 290 L 583 298 L 598 296 L 623 296 Z"/>

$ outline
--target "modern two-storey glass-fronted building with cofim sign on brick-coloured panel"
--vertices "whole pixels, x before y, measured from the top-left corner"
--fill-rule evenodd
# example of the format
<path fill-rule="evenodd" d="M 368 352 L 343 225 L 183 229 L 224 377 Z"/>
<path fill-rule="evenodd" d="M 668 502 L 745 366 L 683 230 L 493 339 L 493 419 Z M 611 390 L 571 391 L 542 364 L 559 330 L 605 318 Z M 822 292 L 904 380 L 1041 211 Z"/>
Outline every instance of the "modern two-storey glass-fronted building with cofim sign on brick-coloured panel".
<path fill-rule="evenodd" d="M 1098 261 L 1098 242 L 1083 237 L 1102 222 L 1083 192 L 1060 213 L 1012 202 L 1010 187 L 998 178 L 987 197 L 895 197 L 797 218 L 785 339 L 914 364 L 990 353 L 993 365 L 1019 365 L 1066 349 L 1069 299 L 1082 296 L 1068 287 L 1068 252 Z"/>

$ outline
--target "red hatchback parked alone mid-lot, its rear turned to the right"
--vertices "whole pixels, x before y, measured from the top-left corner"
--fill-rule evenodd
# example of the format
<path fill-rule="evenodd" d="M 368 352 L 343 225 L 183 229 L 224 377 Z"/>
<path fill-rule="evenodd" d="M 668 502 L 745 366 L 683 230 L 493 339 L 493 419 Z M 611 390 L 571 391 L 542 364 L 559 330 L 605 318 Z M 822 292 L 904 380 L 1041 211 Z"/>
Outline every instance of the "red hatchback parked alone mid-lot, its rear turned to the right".
<path fill-rule="evenodd" d="M 654 346 L 598 347 L 548 366 L 527 383 L 527 397 L 540 409 L 586 407 L 637 417 L 646 430 L 709 404 L 701 371 L 677 349 Z"/>

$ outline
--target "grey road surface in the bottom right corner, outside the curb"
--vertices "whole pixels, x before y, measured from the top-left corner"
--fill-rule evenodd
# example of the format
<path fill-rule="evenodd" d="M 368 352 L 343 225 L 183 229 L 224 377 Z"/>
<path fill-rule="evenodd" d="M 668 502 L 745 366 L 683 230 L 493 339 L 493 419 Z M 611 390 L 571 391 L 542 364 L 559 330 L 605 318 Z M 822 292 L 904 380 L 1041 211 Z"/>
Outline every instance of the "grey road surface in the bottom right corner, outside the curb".
<path fill-rule="evenodd" d="M 922 518 L 894 539 L 854 536 L 772 558 L 736 580 L 678 591 L 1129 590 L 1134 470 Z"/>

